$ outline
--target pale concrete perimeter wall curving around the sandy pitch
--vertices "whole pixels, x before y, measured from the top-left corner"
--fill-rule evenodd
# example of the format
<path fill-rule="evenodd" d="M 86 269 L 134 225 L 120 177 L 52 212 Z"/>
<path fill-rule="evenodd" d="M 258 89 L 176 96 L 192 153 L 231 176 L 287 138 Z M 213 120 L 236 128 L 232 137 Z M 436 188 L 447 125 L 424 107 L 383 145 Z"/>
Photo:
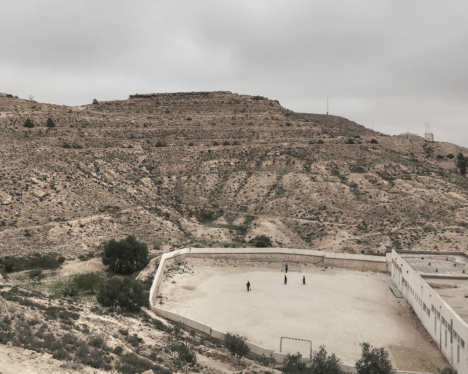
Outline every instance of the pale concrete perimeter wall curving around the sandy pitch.
<path fill-rule="evenodd" d="M 212 328 L 209 323 L 195 321 L 189 317 L 181 316 L 169 310 L 159 308 L 157 295 L 161 285 L 164 270 L 167 265 L 176 263 L 175 256 L 183 255 L 191 258 L 226 259 L 235 261 L 302 261 L 305 263 L 323 264 L 324 266 L 340 267 L 345 269 L 388 271 L 387 259 L 384 256 L 366 256 L 347 253 L 329 253 L 322 251 L 310 251 L 292 248 L 182 248 L 173 252 L 164 253 L 161 256 L 158 270 L 151 285 L 149 302 L 150 309 L 158 316 L 184 324 L 187 327 L 201 331 L 213 338 L 224 340 L 226 332 Z M 252 353 L 265 357 L 273 357 L 277 362 L 283 362 L 286 355 L 276 352 L 271 348 L 265 348 L 251 342 L 247 342 Z M 270 356 L 271 355 L 271 356 Z M 307 360 L 307 358 L 303 359 Z M 351 365 L 342 365 L 344 372 L 356 373 L 356 368 Z M 397 372 L 408 374 L 410 372 Z M 412 372 L 411 372 L 412 373 Z M 429 374 L 429 373 L 418 373 Z"/>

